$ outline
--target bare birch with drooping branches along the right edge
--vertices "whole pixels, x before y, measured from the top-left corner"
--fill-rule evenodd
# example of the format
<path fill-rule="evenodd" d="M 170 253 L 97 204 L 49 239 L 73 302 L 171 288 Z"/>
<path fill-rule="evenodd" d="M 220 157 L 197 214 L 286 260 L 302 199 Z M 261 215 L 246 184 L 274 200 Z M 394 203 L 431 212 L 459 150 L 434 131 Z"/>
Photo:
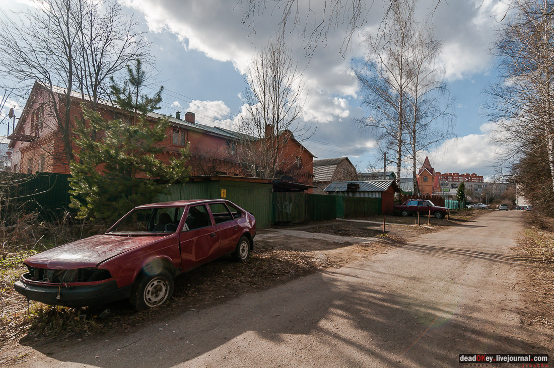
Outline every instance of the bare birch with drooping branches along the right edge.
<path fill-rule="evenodd" d="M 502 163 L 516 163 L 516 173 L 528 173 L 524 166 L 548 168 L 547 186 L 532 185 L 536 200 L 554 196 L 554 2 L 516 0 L 495 44 L 501 81 L 489 87 L 491 120 L 498 131 L 495 140 L 502 147 Z M 517 175 L 516 175 L 517 176 Z M 519 183 L 527 183 L 518 178 Z M 542 191 L 536 188 L 542 188 Z M 545 192 L 546 188 L 549 188 Z M 524 189 L 525 191 L 525 189 Z M 532 200 L 531 198 L 529 198 Z"/>

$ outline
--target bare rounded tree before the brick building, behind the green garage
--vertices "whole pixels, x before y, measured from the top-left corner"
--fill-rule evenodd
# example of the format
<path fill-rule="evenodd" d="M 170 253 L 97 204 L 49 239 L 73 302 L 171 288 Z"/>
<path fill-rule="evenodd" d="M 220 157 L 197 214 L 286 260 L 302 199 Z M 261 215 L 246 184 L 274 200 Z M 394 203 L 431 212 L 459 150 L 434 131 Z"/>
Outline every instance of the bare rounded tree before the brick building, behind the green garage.
<path fill-rule="evenodd" d="M 238 131 L 244 137 L 237 155 L 253 177 L 275 178 L 301 169 L 288 151 L 309 138 L 309 126 L 300 125 L 304 105 L 301 73 L 282 39 L 271 40 L 250 61 L 245 76 L 248 88 L 239 115 Z M 295 137 L 295 135 L 297 137 Z"/>

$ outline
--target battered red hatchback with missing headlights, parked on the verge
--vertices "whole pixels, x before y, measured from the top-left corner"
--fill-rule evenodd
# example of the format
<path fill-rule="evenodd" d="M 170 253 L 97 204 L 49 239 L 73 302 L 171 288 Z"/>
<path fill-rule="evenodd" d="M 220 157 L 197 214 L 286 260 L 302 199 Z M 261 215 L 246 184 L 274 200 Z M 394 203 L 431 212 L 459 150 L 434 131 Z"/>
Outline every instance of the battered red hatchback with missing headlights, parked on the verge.
<path fill-rule="evenodd" d="M 66 307 L 130 298 L 137 309 L 165 303 L 173 278 L 218 257 L 238 262 L 254 249 L 256 220 L 227 200 L 138 206 L 105 234 L 27 258 L 14 288 L 25 298 Z"/>

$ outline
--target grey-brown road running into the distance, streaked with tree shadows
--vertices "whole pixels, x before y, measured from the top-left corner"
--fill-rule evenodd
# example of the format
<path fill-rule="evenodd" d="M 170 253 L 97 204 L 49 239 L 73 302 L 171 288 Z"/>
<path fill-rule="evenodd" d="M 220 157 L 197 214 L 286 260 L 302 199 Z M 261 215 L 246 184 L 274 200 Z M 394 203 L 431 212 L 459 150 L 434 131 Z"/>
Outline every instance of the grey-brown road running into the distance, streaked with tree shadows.
<path fill-rule="evenodd" d="M 495 211 L 371 262 L 329 269 L 124 336 L 32 346 L 43 366 L 458 366 L 460 353 L 551 353 L 520 322 L 521 212 Z"/>

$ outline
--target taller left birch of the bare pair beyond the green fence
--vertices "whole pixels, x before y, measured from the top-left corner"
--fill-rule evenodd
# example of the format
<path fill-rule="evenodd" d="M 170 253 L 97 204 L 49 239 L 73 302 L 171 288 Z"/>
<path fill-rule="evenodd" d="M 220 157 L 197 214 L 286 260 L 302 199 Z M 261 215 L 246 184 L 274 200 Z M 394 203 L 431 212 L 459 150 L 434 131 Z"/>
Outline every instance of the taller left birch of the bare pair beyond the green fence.
<path fill-rule="evenodd" d="M 386 151 L 393 151 L 389 162 L 396 164 L 401 178 L 404 134 L 407 128 L 408 95 L 411 72 L 409 58 L 413 29 L 413 8 L 408 1 L 394 2 L 375 35 L 366 34 L 366 65 L 356 70 L 370 116 L 360 125 L 377 132 Z"/>

